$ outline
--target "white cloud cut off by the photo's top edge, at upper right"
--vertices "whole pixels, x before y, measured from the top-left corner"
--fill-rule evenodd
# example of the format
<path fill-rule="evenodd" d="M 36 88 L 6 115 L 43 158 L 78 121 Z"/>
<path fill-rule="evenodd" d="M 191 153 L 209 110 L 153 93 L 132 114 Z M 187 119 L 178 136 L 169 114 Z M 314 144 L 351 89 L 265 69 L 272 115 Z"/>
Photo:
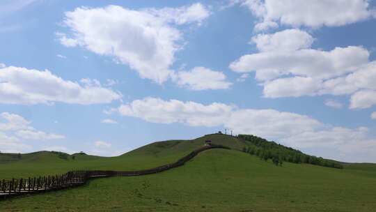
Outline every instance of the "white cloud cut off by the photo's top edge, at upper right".
<path fill-rule="evenodd" d="M 242 0 L 258 17 L 255 29 L 262 31 L 279 24 L 292 27 L 337 27 L 375 16 L 368 0 Z M 338 13 L 340 11 L 340 13 Z"/>

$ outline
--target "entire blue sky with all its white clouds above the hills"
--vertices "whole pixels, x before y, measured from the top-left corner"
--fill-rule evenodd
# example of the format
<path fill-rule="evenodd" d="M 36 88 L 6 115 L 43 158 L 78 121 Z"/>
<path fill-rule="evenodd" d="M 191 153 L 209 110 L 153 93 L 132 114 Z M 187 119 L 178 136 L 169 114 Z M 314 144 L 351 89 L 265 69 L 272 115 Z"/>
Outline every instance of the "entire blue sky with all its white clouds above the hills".
<path fill-rule="evenodd" d="M 375 2 L 280 3 L 1 1 L 0 151 L 228 128 L 376 162 Z"/>

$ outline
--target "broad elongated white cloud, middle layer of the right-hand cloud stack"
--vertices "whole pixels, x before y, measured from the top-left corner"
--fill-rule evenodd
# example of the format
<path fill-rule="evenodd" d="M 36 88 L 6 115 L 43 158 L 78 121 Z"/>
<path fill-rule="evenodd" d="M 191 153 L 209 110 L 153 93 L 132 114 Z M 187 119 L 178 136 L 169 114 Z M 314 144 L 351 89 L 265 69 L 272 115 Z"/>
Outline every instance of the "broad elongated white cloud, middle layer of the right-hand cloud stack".
<path fill-rule="evenodd" d="M 297 50 L 292 52 L 260 52 L 246 54 L 230 64 L 239 73 L 256 71 L 269 75 L 299 75 L 318 79 L 329 79 L 350 73 L 368 63 L 369 53 L 363 47 L 336 47 L 329 52 L 320 50 Z"/>

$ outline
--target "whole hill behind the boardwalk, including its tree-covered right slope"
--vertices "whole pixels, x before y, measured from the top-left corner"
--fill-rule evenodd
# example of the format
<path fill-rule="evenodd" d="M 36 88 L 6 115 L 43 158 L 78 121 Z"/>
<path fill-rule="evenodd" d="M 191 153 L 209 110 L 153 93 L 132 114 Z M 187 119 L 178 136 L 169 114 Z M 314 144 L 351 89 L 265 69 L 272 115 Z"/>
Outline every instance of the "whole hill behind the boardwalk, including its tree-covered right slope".
<path fill-rule="evenodd" d="M 327 163 L 330 165 L 334 164 L 336 167 L 341 166 L 340 162 L 308 156 L 301 153 L 301 151 L 276 144 L 275 142 L 268 142 L 253 135 L 234 137 L 214 133 L 191 140 L 153 142 L 116 157 L 90 156 L 86 153 L 70 155 L 57 151 L 38 151 L 26 154 L 0 153 L 0 169 L 4 171 L 0 174 L 0 178 L 63 174 L 72 169 L 117 171 L 148 169 L 178 160 L 178 158 L 205 145 L 205 141 L 207 140 L 210 140 L 212 144 L 228 146 L 235 151 L 244 151 L 259 156 L 263 160 L 274 160 L 274 158 L 278 157 L 279 160 L 285 162 L 303 162 L 329 166 L 326 165 Z M 324 162 L 320 164 L 316 161 Z"/>

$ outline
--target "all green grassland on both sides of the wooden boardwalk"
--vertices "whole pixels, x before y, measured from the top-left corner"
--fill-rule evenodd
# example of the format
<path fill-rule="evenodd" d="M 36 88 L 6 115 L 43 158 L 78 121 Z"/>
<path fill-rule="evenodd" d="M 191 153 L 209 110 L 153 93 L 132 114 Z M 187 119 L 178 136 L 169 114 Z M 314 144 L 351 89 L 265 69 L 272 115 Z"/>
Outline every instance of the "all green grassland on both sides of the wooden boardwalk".
<path fill-rule="evenodd" d="M 344 169 L 284 162 L 273 165 L 236 151 L 248 145 L 226 135 L 156 142 L 123 156 L 23 155 L 0 164 L 1 177 L 57 174 L 70 169 L 143 169 L 173 162 L 206 139 L 212 149 L 159 174 L 95 179 L 69 190 L 0 202 L 0 211 L 375 211 L 376 165 Z"/>

